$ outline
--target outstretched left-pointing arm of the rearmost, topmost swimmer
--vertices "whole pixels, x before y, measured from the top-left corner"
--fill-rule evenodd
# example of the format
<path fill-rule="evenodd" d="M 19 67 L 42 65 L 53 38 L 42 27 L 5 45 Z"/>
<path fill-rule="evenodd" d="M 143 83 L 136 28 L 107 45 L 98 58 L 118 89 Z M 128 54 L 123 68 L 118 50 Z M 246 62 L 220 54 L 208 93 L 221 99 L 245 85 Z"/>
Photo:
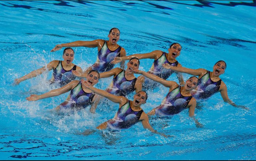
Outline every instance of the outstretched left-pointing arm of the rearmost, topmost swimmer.
<path fill-rule="evenodd" d="M 60 50 L 62 47 L 79 47 L 79 46 L 84 46 L 84 47 L 101 47 L 100 44 L 104 40 L 97 39 L 97 40 L 92 40 L 92 41 L 74 41 L 74 42 L 69 42 L 69 43 L 62 43 L 56 45 L 51 52 Z"/>

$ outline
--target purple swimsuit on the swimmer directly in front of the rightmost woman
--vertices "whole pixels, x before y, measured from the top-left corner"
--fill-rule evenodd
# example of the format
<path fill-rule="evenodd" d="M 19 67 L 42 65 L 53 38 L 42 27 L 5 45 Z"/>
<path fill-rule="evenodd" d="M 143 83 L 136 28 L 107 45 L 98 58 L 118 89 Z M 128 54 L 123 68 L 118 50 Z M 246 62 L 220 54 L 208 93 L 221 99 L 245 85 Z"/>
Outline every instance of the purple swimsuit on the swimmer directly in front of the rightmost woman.
<path fill-rule="evenodd" d="M 156 115 L 158 116 L 171 116 L 185 110 L 192 99 L 192 96 L 183 96 L 181 94 L 181 86 L 170 91 L 161 105 L 156 107 Z"/>

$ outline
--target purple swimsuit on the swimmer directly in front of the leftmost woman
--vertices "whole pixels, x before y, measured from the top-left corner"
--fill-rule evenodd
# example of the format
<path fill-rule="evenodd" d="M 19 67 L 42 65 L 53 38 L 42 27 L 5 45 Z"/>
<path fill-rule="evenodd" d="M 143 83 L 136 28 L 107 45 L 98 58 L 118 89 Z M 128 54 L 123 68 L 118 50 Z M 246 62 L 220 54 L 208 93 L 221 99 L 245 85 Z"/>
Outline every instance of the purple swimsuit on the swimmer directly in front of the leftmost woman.
<path fill-rule="evenodd" d="M 67 99 L 60 104 L 60 109 L 83 109 L 92 104 L 92 99 L 95 93 L 86 93 L 82 89 L 82 84 L 79 82 L 75 88 L 70 91 Z"/>

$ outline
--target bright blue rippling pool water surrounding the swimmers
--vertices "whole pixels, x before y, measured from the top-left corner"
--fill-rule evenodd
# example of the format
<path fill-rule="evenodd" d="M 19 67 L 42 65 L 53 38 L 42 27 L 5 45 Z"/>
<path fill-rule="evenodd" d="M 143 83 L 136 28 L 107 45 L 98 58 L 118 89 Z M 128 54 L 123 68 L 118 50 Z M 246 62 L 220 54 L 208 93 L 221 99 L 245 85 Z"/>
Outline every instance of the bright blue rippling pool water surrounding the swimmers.
<path fill-rule="evenodd" d="M 255 160 L 255 6 L 255 1 L 1 1 L 1 159 Z M 150 120 L 154 129 L 175 137 L 153 134 L 141 123 L 83 136 L 75 133 L 113 118 L 118 105 L 108 101 L 94 115 L 85 109 L 57 116 L 50 111 L 69 92 L 36 102 L 25 99 L 53 89 L 46 82 L 52 72 L 12 85 L 15 78 L 62 60 L 63 49 L 50 52 L 56 44 L 108 40 L 113 27 L 120 29 L 118 44 L 127 55 L 167 51 L 179 42 L 183 49 L 177 59 L 185 67 L 212 70 L 216 61 L 225 60 L 227 69 L 220 77 L 228 96 L 250 110 L 224 103 L 217 93 L 195 110 L 203 128 L 195 127 L 188 110 Z M 96 48 L 74 49 L 74 63 L 83 70 L 96 61 Z M 152 62 L 141 60 L 140 69 L 148 71 Z M 111 79 L 96 87 L 105 89 Z M 169 80 L 178 81 L 175 74 Z M 144 111 L 157 107 L 167 92 L 163 86 L 149 91 Z"/>

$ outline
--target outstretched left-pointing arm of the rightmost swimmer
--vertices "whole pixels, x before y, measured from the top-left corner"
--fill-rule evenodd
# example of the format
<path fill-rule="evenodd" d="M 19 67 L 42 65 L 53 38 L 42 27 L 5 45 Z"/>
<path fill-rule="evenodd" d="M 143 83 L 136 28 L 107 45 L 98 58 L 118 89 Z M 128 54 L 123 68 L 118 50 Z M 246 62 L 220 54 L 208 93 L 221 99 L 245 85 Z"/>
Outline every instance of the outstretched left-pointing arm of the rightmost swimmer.
<path fill-rule="evenodd" d="M 199 76 L 199 77 L 204 75 L 205 72 L 207 72 L 207 70 L 202 69 L 202 68 L 200 68 L 200 69 L 190 69 L 190 68 L 185 68 L 185 67 L 182 67 L 182 66 L 171 66 L 168 63 L 163 64 L 163 67 L 166 68 L 166 69 L 174 70 L 176 72 L 188 73 L 188 74 L 196 75 L 196 76 Z"/>

